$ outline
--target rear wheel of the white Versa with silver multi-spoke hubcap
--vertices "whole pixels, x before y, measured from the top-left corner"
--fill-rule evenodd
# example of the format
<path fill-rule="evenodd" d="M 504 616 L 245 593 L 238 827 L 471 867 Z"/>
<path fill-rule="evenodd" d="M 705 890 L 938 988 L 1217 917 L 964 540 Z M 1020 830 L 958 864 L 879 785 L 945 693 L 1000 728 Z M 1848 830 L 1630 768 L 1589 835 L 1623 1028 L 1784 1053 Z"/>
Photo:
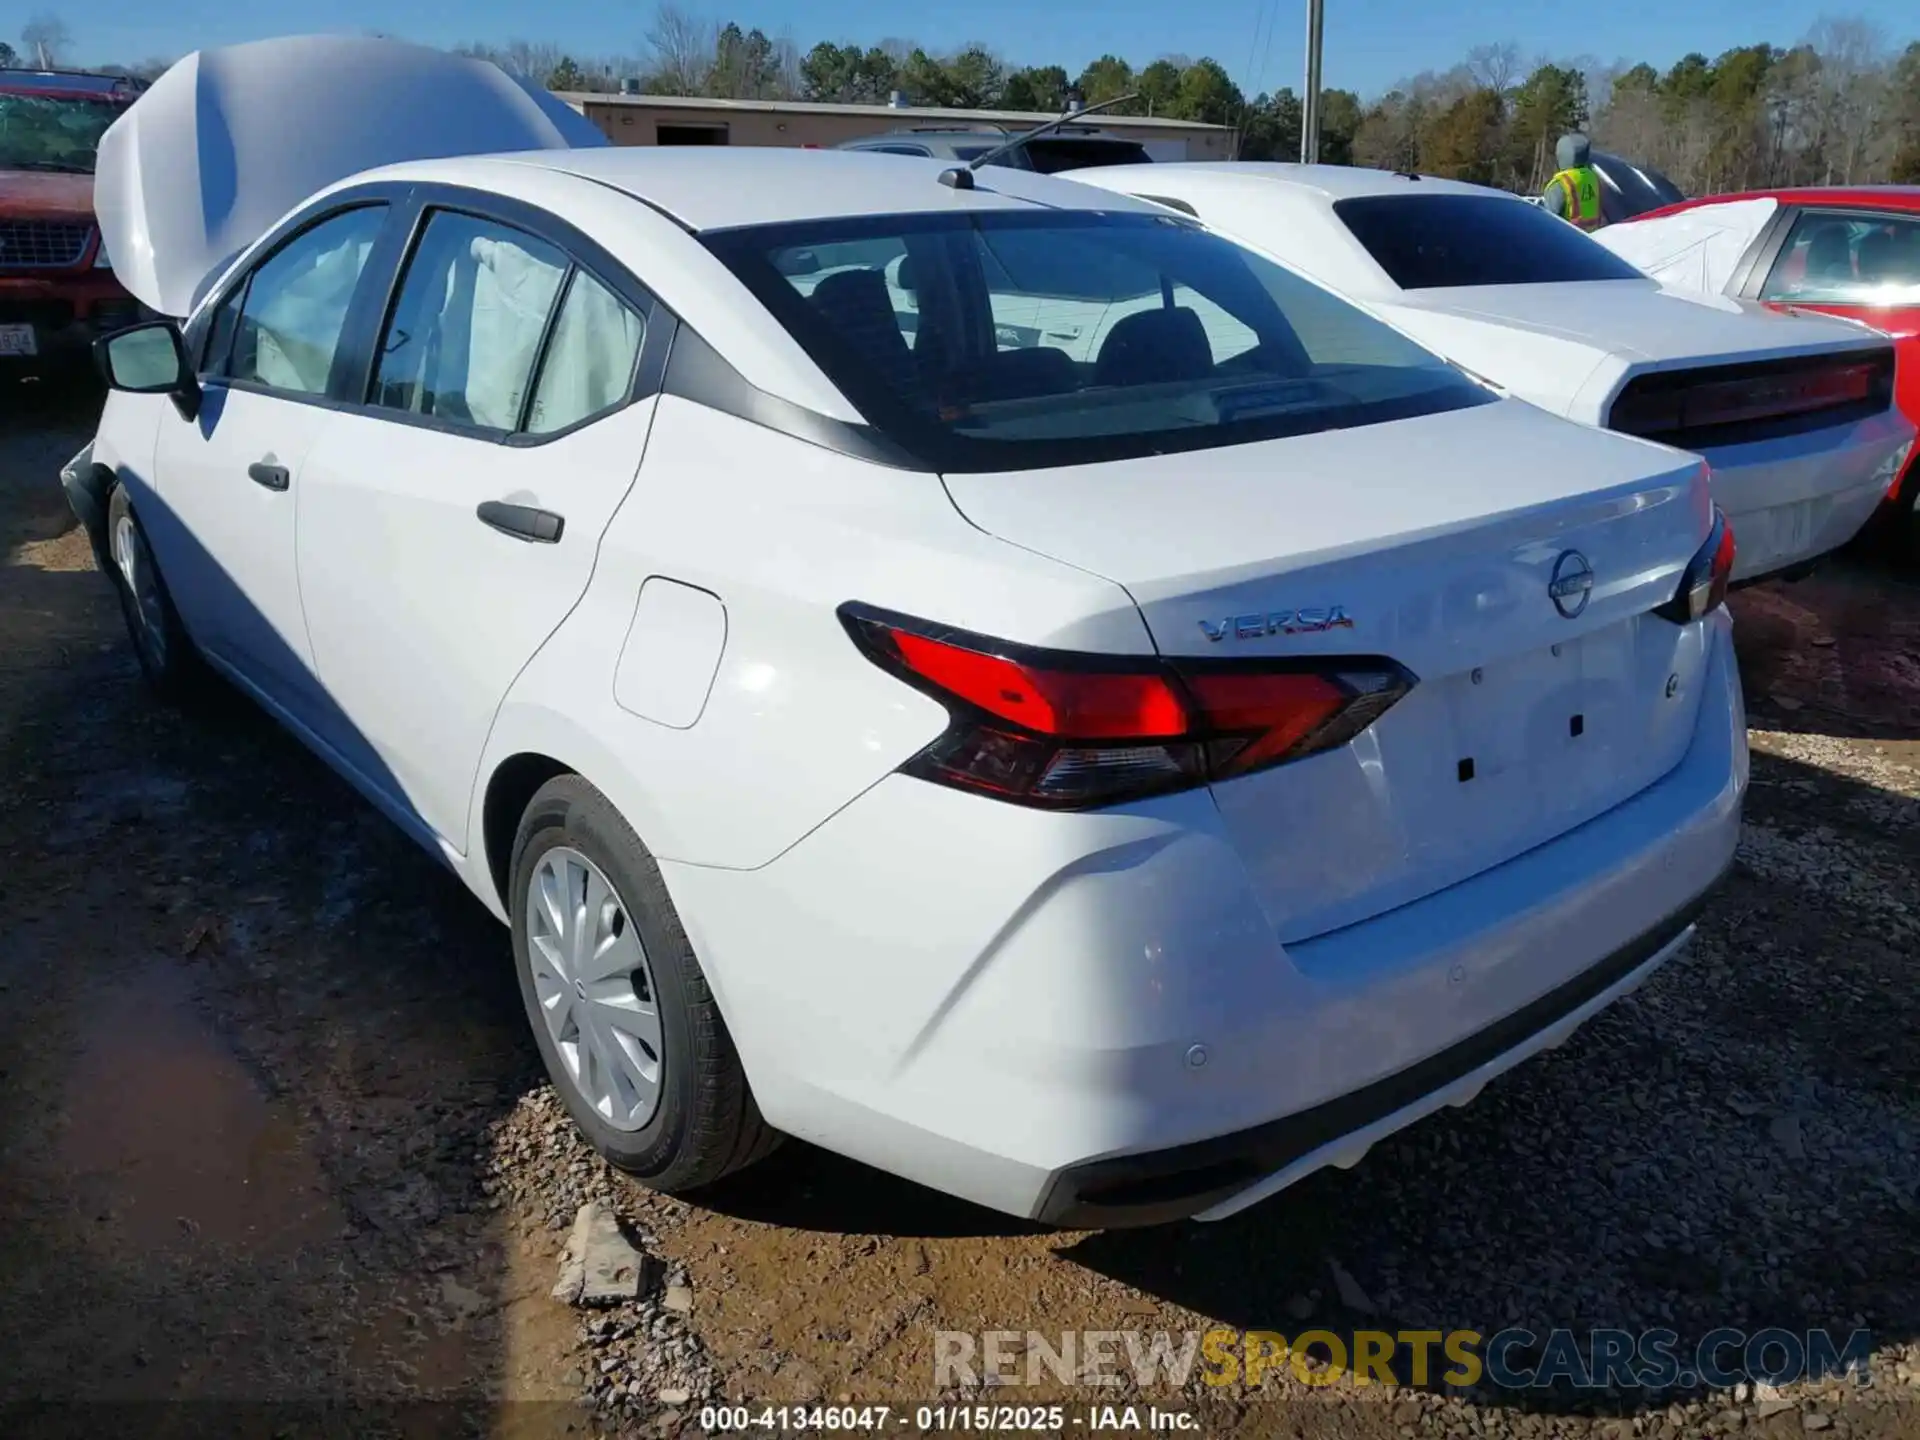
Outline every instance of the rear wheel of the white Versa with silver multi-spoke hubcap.
<path fill-rule="evenodd" d="M 572 960 L 572 937 L 588 912 L 584 895 L 597 895 L 593 872 L 612 910 L 595 906 L 589 933 L 618 937 L 607 954 L 620 964 L 639 960 L 636 972 L 622 972 L 628 989 L 622 975 L 599 977 Z M 545 899 L 557 893 L 566 895 L 563 906 Z M 572 929 L 555 924 L 555 908 Z M 657 1190 L 684 1194 L 774 1150 L 780 1135 L 760 1119 L 660 868 L 607 797 L 578 776 L 549 780 L 528 803 L 513 843 L 509 912 L 540 1058 L 566 1112 L 609 1164 Z M 630 939 L 637 939 L 637 954 Z M 651 1037 L 643 1035 L 649 1000 Z M 616 1035 L 609 1018 L 632 1029 Z M 603 1056 L 614 1046 L 624 1054 L 609 1066 Z"/>

